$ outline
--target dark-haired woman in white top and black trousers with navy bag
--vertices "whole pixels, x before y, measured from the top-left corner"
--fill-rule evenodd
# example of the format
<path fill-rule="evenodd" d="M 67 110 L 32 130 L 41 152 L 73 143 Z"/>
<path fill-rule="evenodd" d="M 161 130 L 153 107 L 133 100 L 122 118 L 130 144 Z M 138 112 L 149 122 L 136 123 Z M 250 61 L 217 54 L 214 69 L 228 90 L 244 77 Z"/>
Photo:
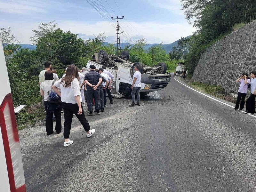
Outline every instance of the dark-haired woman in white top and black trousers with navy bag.
<path fill-rule="evenodd" d="M 48 110 L 48 95 L 49 92 L 52 90 L 52 83 L 54 81 L 53 73 L 51 70 L 47 70 L 44 73 L 45 81 L 40 84 L 40 93 L 44 97 L 44 108 L 46 111 L 46 120 L 45 120 L 45 129 L 47 135 L 51 135 L 53 133 L 53 122 L 52 116 L 53 113 L 56 119 L 55 131 L 57 133 L 61 132 L 61 106 L 59 105 L 58 108 L 55 110 Z"/>

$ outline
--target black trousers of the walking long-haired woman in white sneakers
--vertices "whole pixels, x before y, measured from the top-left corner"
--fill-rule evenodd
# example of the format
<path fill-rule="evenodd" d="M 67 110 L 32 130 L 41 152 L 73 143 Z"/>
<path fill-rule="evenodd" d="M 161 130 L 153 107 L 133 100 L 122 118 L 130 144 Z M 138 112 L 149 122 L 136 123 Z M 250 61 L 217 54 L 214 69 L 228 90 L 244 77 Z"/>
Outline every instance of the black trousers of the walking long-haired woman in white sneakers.
<path fill-rule="evenodd" d="M 82 103 L 81 103 L 82 105 Z M 90 130 L 90 124 L 88 123 L 87 119 L 85 118 L 84 115 L 84 109 L 82 108 L 82 115 L 78 115 L 77 112 L 79 110 L 79 107 L 77 104 L 73 103 L 62 103 L 63 111 L 64 111 L 64 139 L 69 138 L 70 134 L 70 129 L 71 129 L 71 124 L 72 124 L 72 119 L 73 119 L 73 114 L 76 115 L 77 119 L 80 121 L 80 123 L 83 125 L 85 131 Z"/>

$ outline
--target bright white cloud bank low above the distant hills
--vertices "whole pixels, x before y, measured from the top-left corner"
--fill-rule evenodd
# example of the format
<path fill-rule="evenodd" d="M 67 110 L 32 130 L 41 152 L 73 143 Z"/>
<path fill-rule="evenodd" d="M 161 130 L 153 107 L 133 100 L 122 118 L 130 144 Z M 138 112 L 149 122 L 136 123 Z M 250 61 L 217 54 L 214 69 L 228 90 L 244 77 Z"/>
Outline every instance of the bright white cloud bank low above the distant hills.
<path fill-rule="evenodd" d="M 64 31 L 71 31 L 72 33 L 79 34 L 82 39 L 93 38 L 93 34 L 98 35 L 105 31 L 106 39 L 109 43 L 116 41 L 116 29 L 111 26 L 107 21 L 99 22 L 80 22 L 71 20 L 56 20 L 58 28 Z M 39 22 L 8 22 L 7 20 L 0 20 L 1 27 L 11 27 L 12 34 L 24 44 L 31 44 L 29 37 L 34 36 L 32 29 L 38 29 Z M 125 32 L 120 34 L 122 43 L 132 43 L 138 41 L 140 38 L 146 38 L 148 43 L 161 43 L 169 44 L 181 36 L 189 36 L 196 30 L 192 25 L 187 22 L 172 24 L 172 23 L 159 23 L 159 22 L 120 22 L 121 30 Z M 132 30 L 133 29 L 133 30 Z M 135 30 L 137 29 L 137 30 Z"/>

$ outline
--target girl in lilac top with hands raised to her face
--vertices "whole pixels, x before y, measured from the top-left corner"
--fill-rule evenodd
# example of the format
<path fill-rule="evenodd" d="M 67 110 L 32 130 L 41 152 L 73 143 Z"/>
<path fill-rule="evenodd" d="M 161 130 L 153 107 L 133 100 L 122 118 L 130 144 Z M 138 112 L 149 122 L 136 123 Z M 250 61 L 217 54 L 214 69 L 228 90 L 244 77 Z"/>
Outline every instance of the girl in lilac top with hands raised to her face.
<path fill-rule="evenodd" d="M 239 77 L 236 82 L 240 82 L 240 87 L 238 89 L 238 93 L 237 93 L 237 100 L 236 100 L 236 107 L 234 108 L 234 110 L 237 110 L 239 107 L 239 103 L 240 103 L 240 109 L 239 111 L 243 111 L 244 109 L 244 99 L 245 96 L 247 95 L 247 87 L 250 84 L 250 79 L 247 78 L 248 74 L 247 73 L 243 73 L 241 75 L 241 77 Z"/>

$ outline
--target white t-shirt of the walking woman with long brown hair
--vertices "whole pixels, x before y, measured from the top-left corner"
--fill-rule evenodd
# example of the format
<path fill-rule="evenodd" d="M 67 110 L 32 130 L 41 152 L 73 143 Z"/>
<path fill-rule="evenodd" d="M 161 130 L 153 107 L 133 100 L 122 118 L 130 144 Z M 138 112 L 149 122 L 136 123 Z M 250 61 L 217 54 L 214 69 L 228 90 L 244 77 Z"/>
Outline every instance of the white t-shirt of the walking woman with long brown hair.
<path fill-rule="evenodd" d="M 82 102 L 80 84 L 78 79 L 75 78 L 70 87 L 63 87 L 62 83 L 60 83 L 61 79 L 54 83 L 56 87 L 61 90 L 61 101 L 64 103 L 73 103 L 76 104 L 75 96 L 79 95 L 80 102 Z"/>

